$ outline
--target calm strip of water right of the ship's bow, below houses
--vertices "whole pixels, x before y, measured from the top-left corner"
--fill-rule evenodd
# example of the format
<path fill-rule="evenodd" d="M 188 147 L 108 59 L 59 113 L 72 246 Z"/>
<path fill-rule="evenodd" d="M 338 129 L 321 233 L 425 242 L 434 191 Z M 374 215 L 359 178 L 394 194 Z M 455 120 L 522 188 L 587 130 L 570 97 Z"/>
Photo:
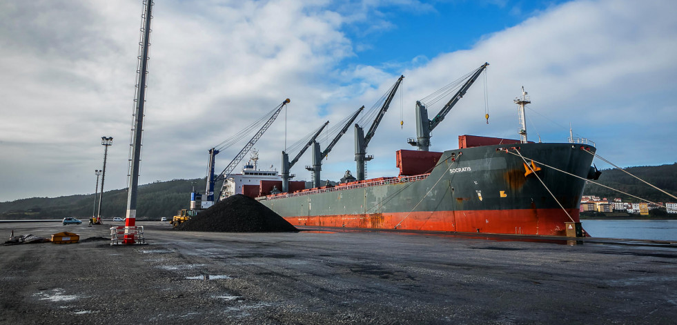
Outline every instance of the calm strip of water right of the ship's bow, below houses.
<path fill-rule="evenodd" d="M 593 237 L 658 239 L 677 241 L 677 220 L 589 220 L 581 221 Z"/>

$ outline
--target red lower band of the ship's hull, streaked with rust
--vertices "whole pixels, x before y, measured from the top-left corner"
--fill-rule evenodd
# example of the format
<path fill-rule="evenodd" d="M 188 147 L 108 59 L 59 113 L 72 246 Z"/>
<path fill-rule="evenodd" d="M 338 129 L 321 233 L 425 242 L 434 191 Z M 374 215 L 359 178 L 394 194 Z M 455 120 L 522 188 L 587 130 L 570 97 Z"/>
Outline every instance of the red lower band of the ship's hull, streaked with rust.
<path fill-rule="evenodd" d="M 579 222 L 578 209 L 568 209 Z M 565 222 L 571 222 L 562 209 L 461 210 L 412 213 L 373 213 L 363 215 L 315 215 L 284 217 L 294 226 L 324 226 L 369 229 L 452 231 L 565 236 Z"/>

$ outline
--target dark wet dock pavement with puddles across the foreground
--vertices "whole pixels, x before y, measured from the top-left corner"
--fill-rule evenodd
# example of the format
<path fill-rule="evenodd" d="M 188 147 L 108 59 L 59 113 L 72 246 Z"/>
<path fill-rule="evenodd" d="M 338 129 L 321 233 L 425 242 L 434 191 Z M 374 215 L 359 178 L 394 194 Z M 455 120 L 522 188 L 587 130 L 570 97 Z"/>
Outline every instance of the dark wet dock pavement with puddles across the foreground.
<path fill-rule="evenodd" d="M 677 245 L 620 239 L 1 223 L 1 324 L 674 324 Z M 490 238 L 490 239 L 487 239 Z M 570 245 L 573 244 L 573 245 Z"/>

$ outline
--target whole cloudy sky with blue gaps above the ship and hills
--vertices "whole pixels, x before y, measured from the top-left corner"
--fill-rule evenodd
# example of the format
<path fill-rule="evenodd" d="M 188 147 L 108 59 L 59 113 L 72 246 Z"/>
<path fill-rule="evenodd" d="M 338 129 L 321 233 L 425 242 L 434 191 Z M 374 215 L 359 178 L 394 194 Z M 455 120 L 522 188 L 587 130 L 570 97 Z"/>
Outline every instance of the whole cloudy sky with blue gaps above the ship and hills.
<path fill-rule="evenodd" d="M 0 201 L 93 193 L 102 136 L 114 137 L 106 190 L 126 188 L 141 10 L 140 0 L 0 2 Z M 458 148 L 464 134 L 518 137 L 524 86 L 530 139 L 565 142 L 571 124 L 619 166 L 673 164 L 675 12 L 658 0 L 157 0 L 139 182 L 204 177 L 209 148 L 290 98 L 255 146 L 261 166 L 279 168 L 285 132 L 292 144 L 369 108 L 404 75 L 368 149 L 368 177 L 396 175 L 415 101 L 485 61 L 431 150 Z M 310 179 L 310 163 L 292 169 L 297 179 Z M 352 130 L 322 178 L 349 169 Z"/>

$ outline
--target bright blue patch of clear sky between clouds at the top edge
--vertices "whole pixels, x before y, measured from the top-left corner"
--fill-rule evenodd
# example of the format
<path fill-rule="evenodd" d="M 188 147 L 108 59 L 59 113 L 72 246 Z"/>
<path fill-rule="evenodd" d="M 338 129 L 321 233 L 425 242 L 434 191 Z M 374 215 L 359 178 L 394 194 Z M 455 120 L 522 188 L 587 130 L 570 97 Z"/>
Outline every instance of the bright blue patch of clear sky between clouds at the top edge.
<path fill-rule="evenodd" d="M 388 66 L 471 48 L 482 37 L 518 23 L 564 1 L 431 1 L 412 10 L 391 5 L 344 32 L 355 44 L 346 65 Z M 380 28 L 369 28 L 380 22 Z M 397 72 L 393 72 L 397 73 Z"/>

